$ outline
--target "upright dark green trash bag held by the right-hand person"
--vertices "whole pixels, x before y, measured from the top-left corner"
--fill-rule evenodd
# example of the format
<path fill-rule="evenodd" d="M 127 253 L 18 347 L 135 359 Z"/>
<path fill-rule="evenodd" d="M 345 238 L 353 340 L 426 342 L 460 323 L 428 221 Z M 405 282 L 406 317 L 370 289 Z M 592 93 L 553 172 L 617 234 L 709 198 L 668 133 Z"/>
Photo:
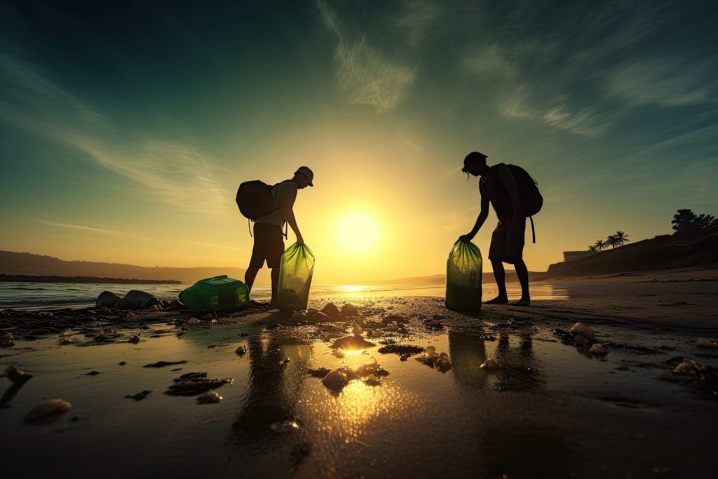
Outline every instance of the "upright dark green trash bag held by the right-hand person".
<path fill-rule="evenodd" d="M 447 259 L 449 310 L 478 310 L 481 307 L 481 251 L 471 241 L 457 241 Z"/>

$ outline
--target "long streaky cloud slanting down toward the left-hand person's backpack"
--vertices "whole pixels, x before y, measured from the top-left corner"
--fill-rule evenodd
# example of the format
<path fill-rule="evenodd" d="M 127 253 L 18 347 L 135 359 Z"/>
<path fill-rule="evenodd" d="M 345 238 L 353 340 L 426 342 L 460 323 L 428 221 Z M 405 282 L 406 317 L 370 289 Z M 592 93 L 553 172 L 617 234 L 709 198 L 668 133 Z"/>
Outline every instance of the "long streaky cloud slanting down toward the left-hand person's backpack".
<path fill-rule="evenodd" d="M 111 115 L 17 57 L 0 54 L 0 71 L 0 121 L 83 152 L 176 208 L 206 214 L 231 208 L 230 194 L 215 181 L 210 159 L 190 145 L 113 124 Z"/>

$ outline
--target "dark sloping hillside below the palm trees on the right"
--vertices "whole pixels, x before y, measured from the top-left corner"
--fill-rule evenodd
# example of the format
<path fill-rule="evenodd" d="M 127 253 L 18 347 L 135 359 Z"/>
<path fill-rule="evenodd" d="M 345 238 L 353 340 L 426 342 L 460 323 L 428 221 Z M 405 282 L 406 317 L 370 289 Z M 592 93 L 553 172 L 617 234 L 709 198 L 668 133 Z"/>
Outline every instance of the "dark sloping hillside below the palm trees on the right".
<path fill-rule="evenodd" d="M 627 271 L 656 271 L 707 266 L 717 262 L 718 235 L 715 233 L 697 239 L 663 235 L 599 251 L 584 258 L 551 264 L 548 276 L 554 278 Z"/>

